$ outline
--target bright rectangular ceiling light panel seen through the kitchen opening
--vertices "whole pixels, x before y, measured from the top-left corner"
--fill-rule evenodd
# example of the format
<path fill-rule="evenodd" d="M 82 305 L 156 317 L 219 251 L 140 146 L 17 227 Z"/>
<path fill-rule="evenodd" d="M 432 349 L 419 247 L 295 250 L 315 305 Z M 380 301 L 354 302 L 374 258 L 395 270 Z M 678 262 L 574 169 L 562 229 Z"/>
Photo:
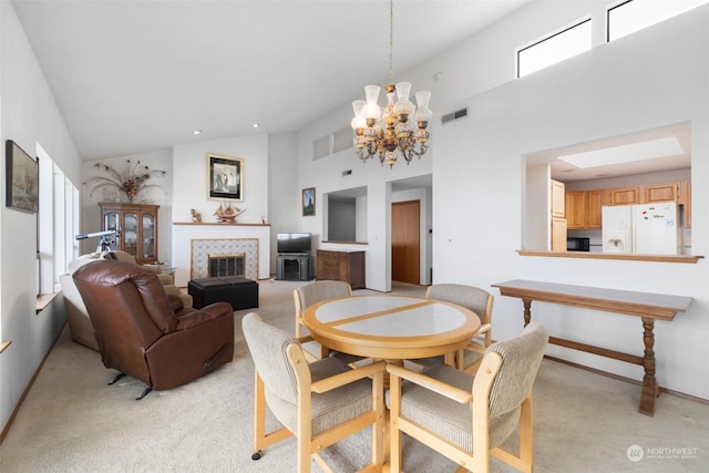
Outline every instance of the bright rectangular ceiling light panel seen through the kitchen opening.
<path fill-rule="evenodd" d="M 587 168 L 676 156 L 682 153 L 684 150 L 677 141 L 677 137 L 670 136 L 585 153 L 567 154 L 558 156 L 558 158 L 576 167 Z"/>

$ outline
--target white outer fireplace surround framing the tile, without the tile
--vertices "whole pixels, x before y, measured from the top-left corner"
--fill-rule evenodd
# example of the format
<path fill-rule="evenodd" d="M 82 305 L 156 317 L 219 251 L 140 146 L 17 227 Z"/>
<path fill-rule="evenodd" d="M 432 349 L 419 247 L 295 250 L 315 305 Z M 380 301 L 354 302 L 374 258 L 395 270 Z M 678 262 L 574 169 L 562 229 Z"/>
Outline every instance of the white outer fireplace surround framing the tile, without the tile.
<path fill-rule="evenodd" d="M 270 277 L 270 224 L 227 224 L 205 222 L 173 222 L 172 255 L 175 284 L 186 287 L 189 281 L 192 240 L 194 239 L 256 239 L 258 240 L 258 279 Z"/>

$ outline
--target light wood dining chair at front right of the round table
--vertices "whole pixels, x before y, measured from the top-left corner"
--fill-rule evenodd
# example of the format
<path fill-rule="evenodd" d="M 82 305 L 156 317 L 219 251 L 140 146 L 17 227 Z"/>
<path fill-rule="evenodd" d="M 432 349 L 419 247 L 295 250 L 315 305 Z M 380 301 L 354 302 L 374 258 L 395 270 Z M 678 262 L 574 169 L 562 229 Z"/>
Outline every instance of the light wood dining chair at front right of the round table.
<path fill-rule="evenodd" d="M 491 345 L 475 374 L 445 364 L 421 372 L 389 364 L 391 471 L 401 471 L 407 433 L 465 470 L 489 472 L 494 456 L 532 472 L 532 387 L 547 342 L 546 329 L 531 322 L 521 335 Z M 503 450 L 517 428 L 518 452 Z"/>

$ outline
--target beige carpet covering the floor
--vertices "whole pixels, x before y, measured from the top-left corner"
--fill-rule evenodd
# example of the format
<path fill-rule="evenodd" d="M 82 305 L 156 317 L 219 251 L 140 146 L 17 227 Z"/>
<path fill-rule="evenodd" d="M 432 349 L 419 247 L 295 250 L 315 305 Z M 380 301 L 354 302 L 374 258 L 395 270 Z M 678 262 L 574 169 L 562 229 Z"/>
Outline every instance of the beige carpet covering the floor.
<path fill-rule="evenodd" d="M 260 281 L 265 320 L 294 330 L 298 282 Z M 417 286 L 394 291 L 423 295 Z M 364 291 L 356 291 L 364 292 Z M 234 361 L 207 377 L 135 401 L 144 389 L 124 378 L 106 383 L 97 352 L 71 341 L 66 329 L 0 445 L 10 472 L 291 472 L 295 441 L 250 460 L 253 363 L 235 312 Z M 534 391 L 536 472 L 707 472 L 709 405 L 662 394 L 657 413 L 639 414 L 637 385 L 545 360 Z M 368 457 L 368 439 L 331 449 L 336 471 Z M 638 445 L 644 457 L 628 459 Z M 453 471 L 452 463 L 405 442 L 407 472 Z M 493 471 L 512 471 L 493 462 Z M 314 471 L 319 471 L 314 467 Z"/>

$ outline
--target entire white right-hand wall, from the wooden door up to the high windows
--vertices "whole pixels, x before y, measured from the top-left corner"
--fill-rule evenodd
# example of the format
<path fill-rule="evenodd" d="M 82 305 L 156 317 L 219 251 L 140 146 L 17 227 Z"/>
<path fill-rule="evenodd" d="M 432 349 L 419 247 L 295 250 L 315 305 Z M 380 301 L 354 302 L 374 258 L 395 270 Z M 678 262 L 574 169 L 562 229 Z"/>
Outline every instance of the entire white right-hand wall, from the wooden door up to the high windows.
<path fill-rule="evenodd" d="M 435 113 L 432 151 L 411 165 L 393 169 L 360 164 L 352 150 L 312 162 L 311 143 L 348 123 L 349 105 L 298 132 L 299 187 L 337 192 L 368 186 L 367 286 L 388 290 L 390 278 L 390 182 L 433 173 L 433 280 L 490 288 L 528 278 L 640 291 L 692 296 L 688 313 L 656 327 L 657 376 L 662 387 L 709 399 L 702 362 L 709 348 L 706 260 L 696 265 L 598 261 L 520 257 L 525 206 L 524 155 L 597 141 L 686 121 L 692 122 L 692 253 L 707 251 L 703 203 L 709 186 L 702 160 L 709 153 L 707 110 L 709 66 L 706 47 L 708 7 L 693 10 L 613 44 L 603 43 L 605 1 L 531 3 L 483 33 L 431 58 L 399 78 L 415 90 L 430 89 Z M 559 25 L 592 16 L 589 52 L 514 80 L 514 52 Z M 440 81 L 433 79 L 442 72 Z M 357 97 L 351 97 L 357 99 Z M 439 116 L 463 106 L 469 116 L 441 126 Z M 340 125 L 333 125 L 340 124 Z M 341 172 L 352 169 L 347 177 Z M 544 196 L 546 202 L 546 196 Z M 544 212 L 547 212 L 545 208 Z M 698 218 L 698 220 L 697 220 Z M 299 222 L 299 230 L 318 233 L 320 218 Z M 358 248 L 362 249 L 362 248 Z M 497 295 L 494 338 L 522 329 L 522 302 Z M 534 305 L 534 316 L 561 337 L 612 349 L 643 352 L 639 319 Z M 621 376 L 640 379 L 640 367 L 551 347 L 549 353 Z M 705 384 L 705 385 L 702 385 Z"/>

